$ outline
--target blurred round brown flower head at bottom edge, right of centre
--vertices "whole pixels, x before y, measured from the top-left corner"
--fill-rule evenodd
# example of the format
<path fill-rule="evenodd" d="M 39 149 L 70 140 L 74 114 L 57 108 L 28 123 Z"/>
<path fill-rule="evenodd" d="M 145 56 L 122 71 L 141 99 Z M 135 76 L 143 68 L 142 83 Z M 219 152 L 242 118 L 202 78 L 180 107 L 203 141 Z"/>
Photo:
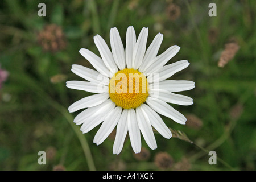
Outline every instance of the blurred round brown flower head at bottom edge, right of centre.
<path fill-rule="evenodd" d="M 170 169 L 173 164 L 173 159 L 167 152 L 159 152 L 155 155 L 154 163 L 160 169 Z"/>

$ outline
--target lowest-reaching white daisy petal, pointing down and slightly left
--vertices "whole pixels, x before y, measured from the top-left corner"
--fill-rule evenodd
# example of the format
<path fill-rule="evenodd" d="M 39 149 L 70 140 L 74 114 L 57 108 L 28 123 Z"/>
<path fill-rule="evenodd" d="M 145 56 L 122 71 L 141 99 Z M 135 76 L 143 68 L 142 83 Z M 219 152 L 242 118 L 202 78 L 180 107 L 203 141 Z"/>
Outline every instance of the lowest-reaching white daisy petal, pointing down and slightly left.
<path fill-rule="evenodd" d="M 115 141 L 113 145 L 113 154 L 119 154 L 122 151 L 123 143 L 128 132 L 127 127 L 128 110 L 125 109 L 117 123 L 117 133 L 115 134 Z"/>

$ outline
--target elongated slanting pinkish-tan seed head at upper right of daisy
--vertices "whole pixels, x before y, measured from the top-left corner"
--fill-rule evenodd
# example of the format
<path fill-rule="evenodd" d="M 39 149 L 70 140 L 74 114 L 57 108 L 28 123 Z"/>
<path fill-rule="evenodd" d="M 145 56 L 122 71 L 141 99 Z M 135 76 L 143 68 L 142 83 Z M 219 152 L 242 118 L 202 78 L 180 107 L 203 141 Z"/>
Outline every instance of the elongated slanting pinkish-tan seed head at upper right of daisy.
<path fill-rule="evenodd" d="M 225 49 L 222 51 L 220 60 L 218 61 L 218 67 L 224 67 L 230 60 L 234 58 L 240 46 L 236 41 L 232 41 L 225 44 Z"/>

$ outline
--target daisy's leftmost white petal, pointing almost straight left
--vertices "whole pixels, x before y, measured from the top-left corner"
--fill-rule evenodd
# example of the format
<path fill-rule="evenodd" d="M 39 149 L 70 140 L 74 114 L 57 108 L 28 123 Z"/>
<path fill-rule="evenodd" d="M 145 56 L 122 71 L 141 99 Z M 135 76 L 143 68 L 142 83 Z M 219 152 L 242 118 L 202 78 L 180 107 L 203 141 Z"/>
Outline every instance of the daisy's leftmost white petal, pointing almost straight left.
<path fill-rule="evenodd" d="M 108 86 L 89 81 L 67 81 L 66 84 L 68 88 L 92 93 L 107 93 L 109 91 Z"/>

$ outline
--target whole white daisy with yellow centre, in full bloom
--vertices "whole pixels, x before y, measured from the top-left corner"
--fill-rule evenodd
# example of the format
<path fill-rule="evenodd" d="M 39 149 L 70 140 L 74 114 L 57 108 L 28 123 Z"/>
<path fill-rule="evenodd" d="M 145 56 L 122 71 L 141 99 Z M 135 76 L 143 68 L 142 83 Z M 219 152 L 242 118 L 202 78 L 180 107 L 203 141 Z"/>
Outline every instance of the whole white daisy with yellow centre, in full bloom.
<path fill-rule="evenodd" d="M 193 81 L 166 80 L 189 65 L 187 60 L 165 65 L 180 47 L 172 46 L 157 56 L 163 35 L 156 35 L 146 50 L 147 36 L 148 28 L 144 27 L 136 40 L 134 28 L 128 27 L 124 48 L 117 28 L 111 28 L 112 51 L 100 35 L 94 36 L 101 57 L 85 48 L 79 52 L 97 71 L 72 65 L 71 71 L 87 81 L 67 81 L 68 88 L 96 93 L 76 101 L 68 110 L 72 113 L 85 109 L 74 119 L 76 125 L 82 124 L 82 133 L 102 123 L 93 140 L 97 145 L 117 126 L 114 154 L 121 152 L 127 133 L 135 153 L 141 151 L 141 133 L 154 150 L 157 145 L 152 127 L 164 138 L 172 137 L 158 113 L 180 124 L 187 120 L 167 102 L 193 104 L 192 98 L 173 93 L 194 88 Z"/>

